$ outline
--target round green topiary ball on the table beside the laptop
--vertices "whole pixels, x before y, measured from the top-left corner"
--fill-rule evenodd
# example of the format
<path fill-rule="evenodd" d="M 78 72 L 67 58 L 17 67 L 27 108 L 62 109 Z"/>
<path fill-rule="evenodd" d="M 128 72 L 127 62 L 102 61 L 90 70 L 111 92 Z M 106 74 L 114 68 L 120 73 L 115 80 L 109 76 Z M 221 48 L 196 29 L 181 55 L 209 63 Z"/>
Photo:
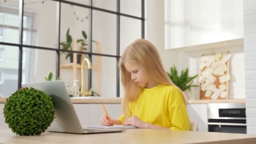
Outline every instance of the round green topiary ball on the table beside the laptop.
<path fill-rule="evenodd" d="M 35 88 L 21 88 L 13 93 L 6 100 L 3 114 L 5 123 L 19 135 L 40 135 L 54 119 L 51 97 Z"/>

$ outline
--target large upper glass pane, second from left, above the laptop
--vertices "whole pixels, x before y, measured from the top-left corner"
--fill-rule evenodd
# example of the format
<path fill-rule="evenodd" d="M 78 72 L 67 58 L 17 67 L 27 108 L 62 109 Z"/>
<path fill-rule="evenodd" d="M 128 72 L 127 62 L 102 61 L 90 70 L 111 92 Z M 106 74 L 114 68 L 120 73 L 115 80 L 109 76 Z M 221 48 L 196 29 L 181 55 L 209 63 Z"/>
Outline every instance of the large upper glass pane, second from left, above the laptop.
<path fill-rule="evenodd" d="M 27 13 L 23 22 L 24 44 L 56 48 L 58 3 L 53 0 L 43 3 L 42 1 L 32 3 L 30 0 L 24 0 L 24 11 Z"/>

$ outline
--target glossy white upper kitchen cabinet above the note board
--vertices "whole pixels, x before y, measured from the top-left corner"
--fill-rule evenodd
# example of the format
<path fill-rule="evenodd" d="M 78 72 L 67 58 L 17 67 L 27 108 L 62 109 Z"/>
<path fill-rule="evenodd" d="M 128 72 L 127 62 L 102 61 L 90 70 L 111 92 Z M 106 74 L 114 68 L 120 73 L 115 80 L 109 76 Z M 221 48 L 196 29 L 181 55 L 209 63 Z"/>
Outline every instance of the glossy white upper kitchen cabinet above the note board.
<path fill-rule="evenodd" d="M 165 49 L 243 38 L 243 0 L 165 0 Z"/>

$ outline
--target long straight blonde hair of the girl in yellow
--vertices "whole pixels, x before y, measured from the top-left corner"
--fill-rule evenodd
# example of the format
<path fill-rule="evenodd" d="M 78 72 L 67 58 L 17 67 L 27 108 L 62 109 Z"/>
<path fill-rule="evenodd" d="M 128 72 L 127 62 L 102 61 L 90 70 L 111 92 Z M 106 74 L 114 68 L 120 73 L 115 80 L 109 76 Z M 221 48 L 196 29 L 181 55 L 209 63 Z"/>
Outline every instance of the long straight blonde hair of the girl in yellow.
<path fill-rule="evenodd" d="M 131 75 L 124 66 L 126 61 L 139 64 L 147 77 L 149 77 L 149 80 L 157 83 L 158 85 L 164 84 L 176 86 L 165 72 L 159 53 L 155 46 L 144 39 L 135 40 L 125 49 L 119 63 L 121 81 L 125 93 L 123 98 L 123 114 L 125 119 L 131 117 L 128 103 L 136 101 L 142 90 L 139 85 L 131 80 Z M 181 93 L 184 97 L 184 101 L 187 104 L 187 98 L 184 92 L 181 91 Z"/>

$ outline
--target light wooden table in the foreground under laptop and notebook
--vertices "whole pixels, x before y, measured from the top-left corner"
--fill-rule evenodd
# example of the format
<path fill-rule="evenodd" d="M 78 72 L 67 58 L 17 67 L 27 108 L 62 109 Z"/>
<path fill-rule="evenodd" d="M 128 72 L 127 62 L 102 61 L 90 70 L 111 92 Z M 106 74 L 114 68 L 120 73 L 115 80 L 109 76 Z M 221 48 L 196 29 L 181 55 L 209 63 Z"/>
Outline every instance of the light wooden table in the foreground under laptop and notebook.
<path fill-rule="evenodd" d="M 256 135 L 197 131 L 128 129 L 120 133 L 69 134 L 45 132 L 40 136 L 18 136 L 0 128 L 0 144 L 256 144 Z"/>

